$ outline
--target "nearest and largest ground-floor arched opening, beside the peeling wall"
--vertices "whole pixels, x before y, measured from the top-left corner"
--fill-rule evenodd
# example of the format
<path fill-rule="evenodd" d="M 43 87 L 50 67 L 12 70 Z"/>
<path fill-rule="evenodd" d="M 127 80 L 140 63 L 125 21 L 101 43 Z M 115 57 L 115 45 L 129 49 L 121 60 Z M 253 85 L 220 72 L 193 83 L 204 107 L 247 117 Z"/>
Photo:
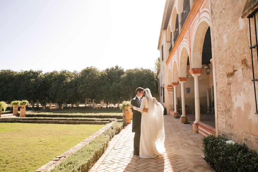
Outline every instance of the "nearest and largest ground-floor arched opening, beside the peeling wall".
<path fill-rule="evenodd" d="M 215 128 L 215 79 L 213 78 L 211 29 L 206 21 L 199 24 L 193 40 L 191 59 L 192 69 L 204 69 L 199 76 L 199 100 L 200 107 L 202 108 L 200 114 L 200 125 L 204 123 Z M 210 68 L 210 73 L 206 73 L 206 68 Z M 199 129 L 201 128 L 199 127 Z"/>

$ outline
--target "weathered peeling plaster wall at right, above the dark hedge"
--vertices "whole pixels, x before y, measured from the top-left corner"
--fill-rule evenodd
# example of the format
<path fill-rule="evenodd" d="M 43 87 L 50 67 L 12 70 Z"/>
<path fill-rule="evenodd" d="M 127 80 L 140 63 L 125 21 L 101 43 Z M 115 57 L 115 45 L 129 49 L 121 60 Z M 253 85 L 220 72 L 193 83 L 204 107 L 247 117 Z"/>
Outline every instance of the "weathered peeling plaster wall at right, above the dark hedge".
<path fill-rule="evenodd" d="M 210 4 L 218 132 L 258 150 L 249 24 L 241 19 L 245 1 L 211 0 Z"/>

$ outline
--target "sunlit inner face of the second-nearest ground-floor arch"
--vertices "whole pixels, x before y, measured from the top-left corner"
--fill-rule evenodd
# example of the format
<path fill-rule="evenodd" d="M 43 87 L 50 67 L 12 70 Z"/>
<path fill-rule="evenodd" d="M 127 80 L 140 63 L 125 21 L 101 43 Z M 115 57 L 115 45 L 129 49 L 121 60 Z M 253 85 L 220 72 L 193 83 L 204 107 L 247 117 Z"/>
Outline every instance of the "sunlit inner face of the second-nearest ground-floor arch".
<path fill-rule="evenodd" d="M 183 46 L 182 51 L 179 55 L 179 77 L 187 77 L 187 59 L 189 57 L 189 52 L 187 47 Z"/>

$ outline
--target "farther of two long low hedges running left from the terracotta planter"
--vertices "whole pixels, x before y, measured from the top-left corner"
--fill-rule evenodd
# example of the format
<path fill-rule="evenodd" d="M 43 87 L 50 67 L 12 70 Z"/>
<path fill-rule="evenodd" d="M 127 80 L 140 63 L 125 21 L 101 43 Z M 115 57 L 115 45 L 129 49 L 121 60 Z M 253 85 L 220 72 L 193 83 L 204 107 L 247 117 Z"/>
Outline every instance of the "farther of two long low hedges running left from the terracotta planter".
<path fill-rule="evenodd" d="M 26 113 L 26 117 L 51 117 L 51 118 L 116 118 L 123 119 L 122 114 L 85 114 L 85 113 Z"/>

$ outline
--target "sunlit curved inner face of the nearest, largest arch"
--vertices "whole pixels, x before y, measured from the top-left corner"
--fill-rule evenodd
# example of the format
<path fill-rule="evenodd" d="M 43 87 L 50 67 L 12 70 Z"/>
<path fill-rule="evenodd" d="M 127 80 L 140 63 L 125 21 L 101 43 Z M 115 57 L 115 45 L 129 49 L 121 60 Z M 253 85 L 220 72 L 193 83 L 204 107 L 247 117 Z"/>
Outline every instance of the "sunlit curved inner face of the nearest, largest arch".
<path fill-rule="evenodd" d="M 195 27 L 193 43 L 192 43 L 192 55 L 191 55 L 191 68 L 201 68 L 201 57 L 203 52 L 203 42 L 205 38 L 206 31 L 209 27 L 209 22 L 207 18 L 203 18 L 203 21 L 200 21 L 199 24 Z"/>

